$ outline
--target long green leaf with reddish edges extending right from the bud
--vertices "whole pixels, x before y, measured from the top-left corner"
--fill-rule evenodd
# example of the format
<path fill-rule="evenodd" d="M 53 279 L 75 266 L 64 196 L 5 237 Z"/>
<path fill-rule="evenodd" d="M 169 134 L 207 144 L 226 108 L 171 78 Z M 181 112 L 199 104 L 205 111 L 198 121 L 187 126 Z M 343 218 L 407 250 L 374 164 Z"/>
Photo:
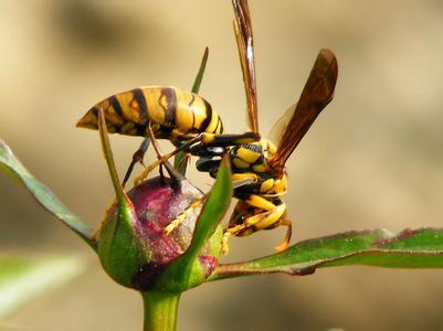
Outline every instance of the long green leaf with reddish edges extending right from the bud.
<path fill-rule="evenodd" d="M 367 265 L 389 268 L 442 268 L 443 228 L 352 231 L 299 242 L 286 250 L 251 261 L 220 265 L 210 280 L 285 273 L 313 274 L 317 268 Z"/>

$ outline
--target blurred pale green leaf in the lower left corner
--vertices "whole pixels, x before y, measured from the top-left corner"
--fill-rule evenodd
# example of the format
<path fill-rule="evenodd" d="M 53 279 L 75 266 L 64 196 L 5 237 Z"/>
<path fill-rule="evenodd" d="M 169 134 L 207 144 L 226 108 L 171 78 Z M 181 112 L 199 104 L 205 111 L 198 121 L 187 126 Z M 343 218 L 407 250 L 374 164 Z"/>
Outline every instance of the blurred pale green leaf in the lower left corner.
<path fill-rule="evenodd" d="M 0 255 L 0 318 L 85 269 L 85 261 L 76 256 Z"/>

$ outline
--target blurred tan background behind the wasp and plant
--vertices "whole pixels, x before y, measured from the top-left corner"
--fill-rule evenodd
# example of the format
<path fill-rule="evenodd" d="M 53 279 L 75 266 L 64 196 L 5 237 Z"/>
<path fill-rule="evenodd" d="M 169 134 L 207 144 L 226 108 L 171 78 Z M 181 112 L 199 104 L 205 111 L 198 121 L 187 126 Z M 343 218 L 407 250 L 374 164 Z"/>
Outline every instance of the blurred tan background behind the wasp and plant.
<path fill-rule="evenodd" d="M 347 229 L 442 226 L 441 1 L 259 1 L 252 11 L 265 134 L 334 50 L 334 102 L 287 164 L 294 239 Z M 245 129 L 241 71 L 224 1 L 0 1 L 0 138 L 75 213 L 97 224 L 113 199 L 95 131 L 74 127 L 96 102 L 141 85 L 189 89 L 204 46 L 201 95 L 226 131 Z M 139 138 L 113 136 L 120 173 Z M 162 145 L 170 149 L 170 145 Z M 140 168 L 138 168 L 138 171 Z M 190 171 L 203 190 L 209 177 Z M 81 253 L 91 271 L 7 322 L 18 330 L 140 330 L 141 300 L 0 174 L 0 245 Z M 231 241 L 239 260 L 273 252 L 284 228 Z M 443 271 L 369 267 L 208 284 L 183 295 L 179 330 L 443 329 Z M 14 329 L 15 330 L 15 329 Z"/>

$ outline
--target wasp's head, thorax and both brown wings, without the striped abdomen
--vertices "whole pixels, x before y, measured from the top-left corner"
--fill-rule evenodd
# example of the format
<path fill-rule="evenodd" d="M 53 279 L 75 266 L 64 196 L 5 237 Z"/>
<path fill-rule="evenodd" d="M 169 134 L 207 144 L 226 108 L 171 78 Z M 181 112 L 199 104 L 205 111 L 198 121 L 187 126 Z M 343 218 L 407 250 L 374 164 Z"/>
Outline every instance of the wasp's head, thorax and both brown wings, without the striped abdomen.
<path fill-rule="evenodd" d="M 234 32 L 246 93 L 250 129 L 259 134 L 257 98 L 253 34 L 247 0 L 233 0 L 235 13 Z M 246 236 L 260 229 L 271 229 L 279 225 L 287 227 L 283 243 L 276 247 L 284 250 L 288 246 L 292 223 L 286 217 L 286 204 L 281 196 L 287 191 L 285 163 L 319 113 L 330 103 L 337 82 L 337 60 L 329 50 L 320 50 L 305 84 L 298 103 L 288 109 L 291 120 L 275 146 L 267 139 L 233 145 L 228 154 L 231 161 L 232 181 L 253 179 L 252 183 L 236 186 L 234 196 L 239 199 L 224 235 L 223 249 L 228 250 L 229 236 Z M 197 167 L 217 174 L 220 159 L 202 157 Z"/>

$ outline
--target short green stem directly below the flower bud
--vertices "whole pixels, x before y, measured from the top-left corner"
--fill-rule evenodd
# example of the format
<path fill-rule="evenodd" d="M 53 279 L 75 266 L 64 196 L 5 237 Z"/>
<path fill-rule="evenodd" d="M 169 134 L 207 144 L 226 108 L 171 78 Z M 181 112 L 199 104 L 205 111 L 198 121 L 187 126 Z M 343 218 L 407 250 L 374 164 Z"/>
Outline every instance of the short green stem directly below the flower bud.
<path fill-rule="evenodd" d="M 141 292 L 145 310 L 145 331 L 173 331 L 181 293 Z"/>

